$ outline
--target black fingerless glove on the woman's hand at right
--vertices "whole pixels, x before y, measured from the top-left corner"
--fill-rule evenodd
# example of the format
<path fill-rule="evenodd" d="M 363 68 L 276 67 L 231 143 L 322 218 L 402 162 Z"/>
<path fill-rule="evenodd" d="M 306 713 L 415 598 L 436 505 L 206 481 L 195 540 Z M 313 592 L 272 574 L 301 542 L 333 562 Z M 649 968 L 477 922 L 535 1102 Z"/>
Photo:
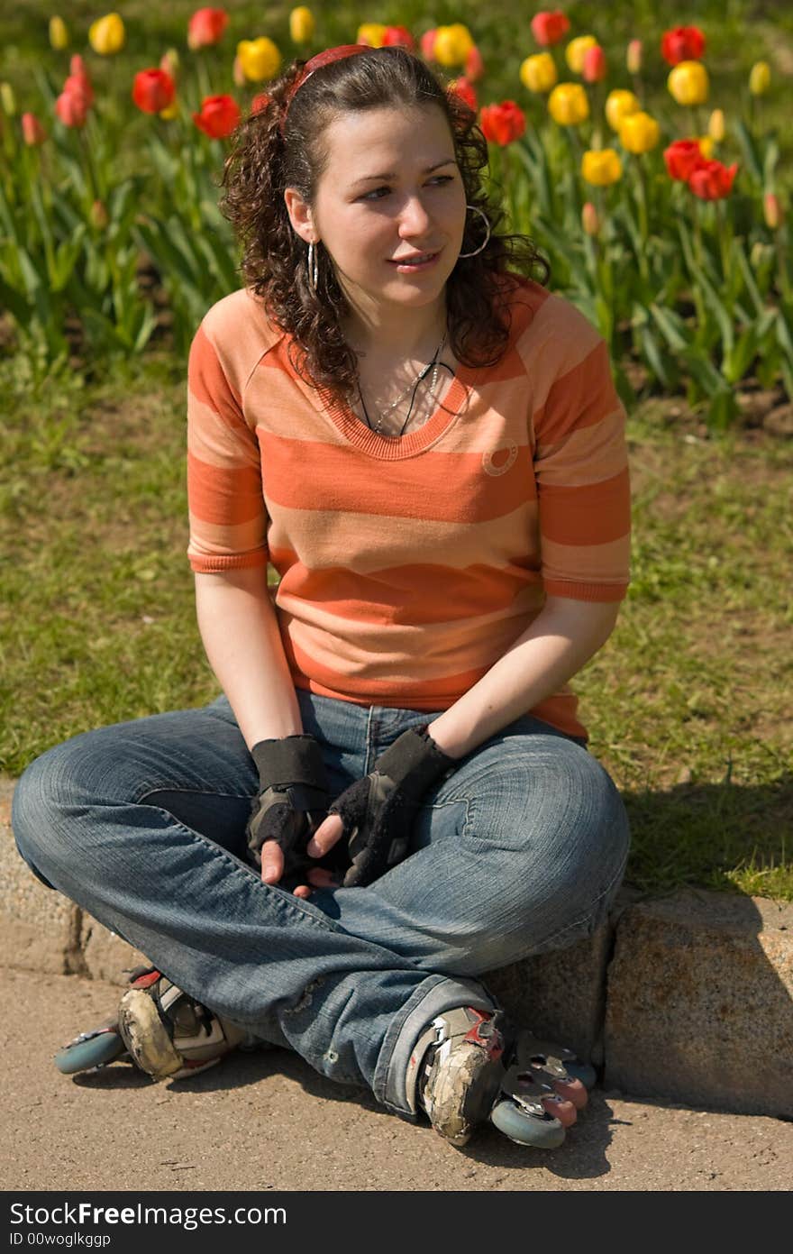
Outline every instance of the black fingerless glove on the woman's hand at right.
<path fill-rule="evenodd" d="M 441 752 L 426 727 L 411 727 L 377 759 L 365 779 L 356 780 L 333 801 L 328 813 L 342 819 L 352 860 L 345 888 L 371 884 L 407 855 L 422 795 L 456 767 L 456 760 Z"/>

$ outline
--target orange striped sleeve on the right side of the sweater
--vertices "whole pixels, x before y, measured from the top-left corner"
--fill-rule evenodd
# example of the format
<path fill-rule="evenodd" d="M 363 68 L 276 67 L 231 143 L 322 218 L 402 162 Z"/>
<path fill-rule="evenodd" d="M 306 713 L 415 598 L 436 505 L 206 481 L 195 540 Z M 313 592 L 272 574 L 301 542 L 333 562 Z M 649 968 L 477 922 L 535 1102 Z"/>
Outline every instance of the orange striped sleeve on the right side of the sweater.
<path fill-rule="evenodd" d="M 621 601 L 630 577 L 625 410 L 605 341 L 571 312 L 578 334 L 534 424 L 542 579 L 551 596 Z"/>

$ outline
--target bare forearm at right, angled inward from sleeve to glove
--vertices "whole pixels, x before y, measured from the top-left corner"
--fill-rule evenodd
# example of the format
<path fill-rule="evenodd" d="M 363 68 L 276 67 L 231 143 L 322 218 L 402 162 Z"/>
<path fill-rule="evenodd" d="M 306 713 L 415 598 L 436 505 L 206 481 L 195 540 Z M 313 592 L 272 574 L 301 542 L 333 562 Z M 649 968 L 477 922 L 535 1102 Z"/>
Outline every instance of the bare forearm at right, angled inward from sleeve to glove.
<path fill-rule="evenodd" d="M 464 757 L 545 697 L 557 692 L 614 630 L 619 602 L 547 597 L 531 626 L 486 675 L 431 722 L 450 757 Z"/>

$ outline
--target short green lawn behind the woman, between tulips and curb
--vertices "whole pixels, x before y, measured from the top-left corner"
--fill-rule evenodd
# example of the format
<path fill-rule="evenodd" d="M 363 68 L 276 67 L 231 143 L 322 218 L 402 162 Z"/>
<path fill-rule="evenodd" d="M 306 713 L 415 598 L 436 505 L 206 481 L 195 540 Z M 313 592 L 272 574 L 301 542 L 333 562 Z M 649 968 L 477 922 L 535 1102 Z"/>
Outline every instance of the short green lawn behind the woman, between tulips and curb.
<path fill-rule="evenodd" d="M 0 770 L 217 685 L 184 556 L 184 379 L 168 356 L 36 393 L 0 362 Z M 630 420 L 634 582 L 583 672 L 594 752 L 634 828 L 629 880 L 793 899 L 792 450 Z M 787 691 L 785 691 L 787 690 Z"/>

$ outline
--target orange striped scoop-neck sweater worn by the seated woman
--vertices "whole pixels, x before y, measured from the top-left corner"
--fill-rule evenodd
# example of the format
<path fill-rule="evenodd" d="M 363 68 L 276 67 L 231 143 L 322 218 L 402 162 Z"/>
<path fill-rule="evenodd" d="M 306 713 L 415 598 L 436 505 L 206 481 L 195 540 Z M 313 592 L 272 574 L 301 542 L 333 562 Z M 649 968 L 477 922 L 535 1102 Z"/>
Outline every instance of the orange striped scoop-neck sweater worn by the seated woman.
<path fill-rule="evenodd" d="M 297 687 L 445 710 L 526 630 L 546 593 L 628 584 L 624 410 L 601 337 L 521 281 L 506 355 L 460 367 L 401 439 L 308 386 L 248 290 L 207 314 L 188 375 L 197 572 L 262 567 Z M 585 735 L 565 688 L 532 711 Z"/>

